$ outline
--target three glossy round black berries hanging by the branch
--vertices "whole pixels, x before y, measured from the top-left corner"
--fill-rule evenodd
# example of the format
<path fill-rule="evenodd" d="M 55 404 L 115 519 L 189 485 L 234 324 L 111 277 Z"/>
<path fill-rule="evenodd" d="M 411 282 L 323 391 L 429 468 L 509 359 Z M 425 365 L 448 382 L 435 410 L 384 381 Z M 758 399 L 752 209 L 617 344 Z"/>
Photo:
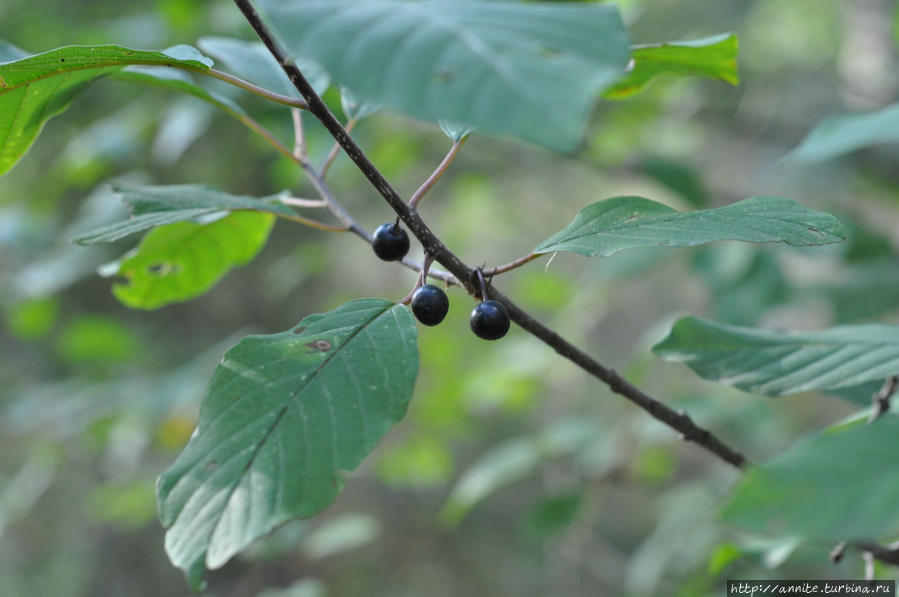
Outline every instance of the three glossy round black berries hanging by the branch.
<path fill-rule="evenodd" d="M 384 261 L 400 261 L 409 252 L 409 236 L 400 228 L 399 222 L 381 224 L 372 237 L 372 248 Z M 449 299 L 440 288 L 424 284 L 412 293 L 411 306 L 418 321 L 424 325 L 437 325 L 449 311 Z M 469 323 L 471 331 L 479 338 L 498 340 L 509 331 L 509 313 L 499 301 L 481 300 L 471 312 Z"/>

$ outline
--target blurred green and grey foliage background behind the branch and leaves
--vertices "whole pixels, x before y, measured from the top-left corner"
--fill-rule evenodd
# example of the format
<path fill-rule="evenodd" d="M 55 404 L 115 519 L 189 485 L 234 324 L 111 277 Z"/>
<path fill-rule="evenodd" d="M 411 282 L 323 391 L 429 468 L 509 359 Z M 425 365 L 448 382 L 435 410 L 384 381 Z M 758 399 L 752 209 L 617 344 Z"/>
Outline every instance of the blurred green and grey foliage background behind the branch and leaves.
<path fill-rule="evenodd" d="M 750 396 L 649 354 L 675 315 L 817 329 L 897 321 L 894 147 L 816 165 L 782 158 L 821 118 L 896 99 L 887 0 L 626 0 L 634 43 L 733 31 L 741 84 L 666 79 L 602 102 L 575 158 L 475 134 L 422 213 L 469 263 L 525 254 L 581 207 L 641 195 L 679 209 L 782 195 L 844 222 L 843 245 L 719 243 L 558 255 L 498 282 L 523 306 L 753 460 L 857 409 L 858 395 Z M 0 3 L 0 38 L 29 52 L 252 39 L 228 2 Z M 290 118 L 238 99 L 290 139 Z M 326 99 L 339 110 L 335 90 Z M 331 141 L 308 126 L 311 155 Z M 448 149 L 436 127 L 380 113 L 355 133 L 401 192 Z M 341 157 L 331 184 L 367 227 L 387 206 Z M 374 296 L 415 274 L 355 238 L 278 223 L 254 263 L 196 300 L 129 310 L 97 268 L 133 239 L 68 241 L 125 213 L 105 183 L 202 183 L 255 196 L 311 188 L 198 100 L 100 81 L 0 179 L 0 595 L 188 594 L 167 561 L 154 479 L 193 430 L 215 363 L 242 335 Z M 414 249 L 413 249 L 414 250 Z M 293 522 L 210 574 L 216 596 L 717 595 L 725 578 L 854 578 L 830 545 L 716 522 L 736 472 L 678 441 L 526 334 L 474 338 L 471 299 L 420 335 L 410 413 L 322 515 Z M 847 399 L 848 398 L 848 399 Z M 881 570 L 887 578 L 892 570 Z"/>

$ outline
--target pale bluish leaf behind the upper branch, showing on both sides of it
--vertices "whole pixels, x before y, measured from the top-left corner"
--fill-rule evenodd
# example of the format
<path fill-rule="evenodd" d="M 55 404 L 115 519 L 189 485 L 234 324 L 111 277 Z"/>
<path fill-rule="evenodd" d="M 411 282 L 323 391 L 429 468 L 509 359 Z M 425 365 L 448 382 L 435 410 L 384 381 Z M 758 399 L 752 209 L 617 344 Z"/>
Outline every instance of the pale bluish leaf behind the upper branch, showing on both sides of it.
<path fill-rule="evenodd" d="M 299 98 L 300 94 L 287 78 L 284 69 L 261 42 L 243 41 L 231 37 L 201 37 L 197 40 L 201 50 L 224 65 L 232 74 L 260 87 Z M 297 61 L 297 66 L 315 89 L 324 93 L 331 83 L 328 73 L 313 62 Z"/>

